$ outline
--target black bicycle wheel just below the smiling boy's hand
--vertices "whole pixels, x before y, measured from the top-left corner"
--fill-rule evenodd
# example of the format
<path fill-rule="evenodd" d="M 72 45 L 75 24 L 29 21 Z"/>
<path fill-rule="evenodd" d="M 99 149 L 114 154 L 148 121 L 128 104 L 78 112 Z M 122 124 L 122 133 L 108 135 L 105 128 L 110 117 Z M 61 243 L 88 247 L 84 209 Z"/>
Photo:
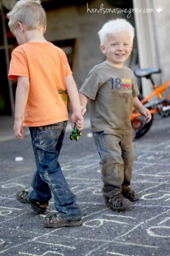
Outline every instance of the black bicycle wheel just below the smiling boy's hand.
<path fill-rule="evenodd" d="M 154 116 L 152 115 L 152 118 L 150 120 L 150 122 L 146 122 L 145 117 L 141 116 L 141 117 L 136 117 L 134 120 L 131 121 L 132 124 L 132 129 L 134 132 L 134 139 L 139 139 L 140 137 L 142 137 L 144 134 L 146 134 L 146 132 L 148 132 L 148 130 L 150 129 L 152 122 L 153 122 Z"/>

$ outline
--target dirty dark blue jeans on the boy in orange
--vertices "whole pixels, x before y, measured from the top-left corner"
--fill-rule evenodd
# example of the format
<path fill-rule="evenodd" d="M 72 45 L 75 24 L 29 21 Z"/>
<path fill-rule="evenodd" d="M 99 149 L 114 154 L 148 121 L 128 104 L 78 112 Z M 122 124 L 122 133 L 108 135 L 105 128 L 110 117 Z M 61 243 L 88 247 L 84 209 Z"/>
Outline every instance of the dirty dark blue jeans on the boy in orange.
<path fill-rule="evenodd" d="M 52 191 L 55 208 L 60 215 L 67 220 L 79 220 L 81 212 L 76 205 L 76 197 L 71 192 L 58 163 L 66 126 L 67 121 L 29 128 L 37 166 L 29 198 L 42 205 L 48 205 Z"/>

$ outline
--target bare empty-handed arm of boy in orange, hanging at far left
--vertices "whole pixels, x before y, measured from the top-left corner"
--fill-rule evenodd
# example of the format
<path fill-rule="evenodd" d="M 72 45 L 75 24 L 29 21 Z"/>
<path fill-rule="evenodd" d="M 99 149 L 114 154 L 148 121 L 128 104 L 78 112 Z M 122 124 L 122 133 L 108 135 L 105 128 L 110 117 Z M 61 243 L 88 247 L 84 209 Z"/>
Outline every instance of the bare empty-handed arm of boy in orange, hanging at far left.
<path fill-rule="evenodd" d="M 18 139 L 23 139 L 24 114 L 29 94 L 29 78 L 18 76 L 15 97 L 15 123 L 14 134 Z"/>

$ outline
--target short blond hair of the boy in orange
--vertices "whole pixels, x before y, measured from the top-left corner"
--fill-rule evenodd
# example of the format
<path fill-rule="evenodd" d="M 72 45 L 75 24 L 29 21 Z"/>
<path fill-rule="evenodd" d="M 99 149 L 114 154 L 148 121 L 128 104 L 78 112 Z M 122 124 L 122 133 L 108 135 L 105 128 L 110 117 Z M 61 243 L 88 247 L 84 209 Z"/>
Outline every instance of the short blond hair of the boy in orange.
<path fill-rule="evenodd" d="M 46 13 L 40 0 L 19 0 L 12 11 L 7 13 L 7 18 L 11 31 L 17 27 L 18 22 L 25 24 L 26 30 L 39 30 L 46 26 Z"/>

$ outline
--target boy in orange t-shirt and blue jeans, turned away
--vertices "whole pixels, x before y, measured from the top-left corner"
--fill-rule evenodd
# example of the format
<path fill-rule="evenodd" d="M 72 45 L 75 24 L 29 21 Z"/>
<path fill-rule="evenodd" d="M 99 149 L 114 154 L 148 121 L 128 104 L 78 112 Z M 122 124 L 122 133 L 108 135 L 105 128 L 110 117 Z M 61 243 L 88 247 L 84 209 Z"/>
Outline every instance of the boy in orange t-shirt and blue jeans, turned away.
<path fill-rule="evenodd" d="M 58 163 L 68 121 L 67 93 L 71 125 L 83 128 L 77 86 L 64 52 L 44 38 L 46 14 L 39 0 L 18 1 L 7 17 L 19 44 L 9 69 L 9 78 L 17 80 L 14 133 L 23 139 L 23 126 L 29 126 L 37 165 L 33 190 L 19 191 L 16 198 L 44 213 L 52 191 L 57 213 L 45 217 L 44 226 L 79 226 L 81 212 Z"/>

